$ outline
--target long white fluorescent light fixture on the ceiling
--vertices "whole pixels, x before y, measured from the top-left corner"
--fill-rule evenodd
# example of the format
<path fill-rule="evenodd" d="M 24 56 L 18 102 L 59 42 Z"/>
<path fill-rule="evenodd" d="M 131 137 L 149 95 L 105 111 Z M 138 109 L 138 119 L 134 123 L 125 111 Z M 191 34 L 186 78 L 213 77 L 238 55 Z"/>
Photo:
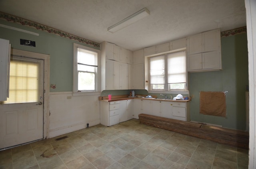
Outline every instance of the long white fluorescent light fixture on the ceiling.
<path fill-rule="evenodd" d="M 150 12 L 147 8 L 143 8 L 142 10 L 136 12 L 135 14 L 132 14 L 131 16 L 128 16 L 124 20 L 114 24 L 113 26 L 110 26 L 108 28 L 108 31 L 114 33 L 120 29 L 125 28 L 126 26 L 129 26 L 133 24 L 134 22 L 137 22 L 138 20 L 141 20 L 145 18 L 146 16 L 149 16 Z"/>

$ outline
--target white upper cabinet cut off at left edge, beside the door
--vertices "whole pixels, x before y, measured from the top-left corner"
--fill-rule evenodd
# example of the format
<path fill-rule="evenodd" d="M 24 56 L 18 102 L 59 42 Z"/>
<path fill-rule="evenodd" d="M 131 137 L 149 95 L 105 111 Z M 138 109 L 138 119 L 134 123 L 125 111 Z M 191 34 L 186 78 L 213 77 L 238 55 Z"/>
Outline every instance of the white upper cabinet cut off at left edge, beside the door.
<path fill-rule="evenodd" d="M 7 100 L 10 65 L 10 45 L 6 39 L 0 39 L 0 101 Z"/>

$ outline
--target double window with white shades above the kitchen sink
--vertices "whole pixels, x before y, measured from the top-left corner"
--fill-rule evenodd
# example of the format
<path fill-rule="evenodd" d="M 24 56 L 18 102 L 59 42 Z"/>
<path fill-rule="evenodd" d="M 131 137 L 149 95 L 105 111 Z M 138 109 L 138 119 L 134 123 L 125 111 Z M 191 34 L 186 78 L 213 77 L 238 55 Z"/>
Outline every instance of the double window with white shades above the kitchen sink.
<path fill-rule="evenodd" d="M 186 90 L 186 52 L 149 58 L 151 90 Z"/>

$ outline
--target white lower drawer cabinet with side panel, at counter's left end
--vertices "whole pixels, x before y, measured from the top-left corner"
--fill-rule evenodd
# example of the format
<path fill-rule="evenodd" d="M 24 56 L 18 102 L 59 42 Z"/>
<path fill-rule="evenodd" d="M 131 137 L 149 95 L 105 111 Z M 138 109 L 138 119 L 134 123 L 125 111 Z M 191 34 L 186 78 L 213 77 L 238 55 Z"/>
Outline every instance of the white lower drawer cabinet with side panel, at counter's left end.
<path fill-rule="evenodd" d="M 120 101 L 100 102 L 100 124 L 113 126 L 119 123 Z"/>

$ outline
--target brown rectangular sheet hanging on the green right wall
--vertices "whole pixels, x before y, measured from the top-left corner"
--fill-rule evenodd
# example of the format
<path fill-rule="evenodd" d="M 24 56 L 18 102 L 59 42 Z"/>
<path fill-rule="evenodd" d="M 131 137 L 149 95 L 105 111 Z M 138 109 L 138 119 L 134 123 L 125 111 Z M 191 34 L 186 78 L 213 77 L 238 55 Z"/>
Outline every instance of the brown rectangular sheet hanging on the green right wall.
<path fill-rule="evenodd" d="M 226 92 L 200 92 L 200 113 L 226 117 Z"/>

